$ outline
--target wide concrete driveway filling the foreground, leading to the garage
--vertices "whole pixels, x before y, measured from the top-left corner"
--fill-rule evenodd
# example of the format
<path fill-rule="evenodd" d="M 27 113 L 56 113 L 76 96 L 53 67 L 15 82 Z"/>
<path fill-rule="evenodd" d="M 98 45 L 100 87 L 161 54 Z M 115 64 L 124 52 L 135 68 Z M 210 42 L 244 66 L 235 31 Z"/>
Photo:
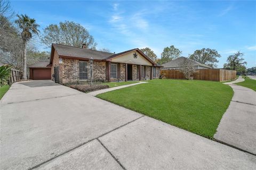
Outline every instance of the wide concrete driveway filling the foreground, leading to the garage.
<path fill-rule="evenodd" d="M 0 161 L 1 169 L 256 168 L 252 154 L 50 81 L 14 83 L 2 98 Z"/>

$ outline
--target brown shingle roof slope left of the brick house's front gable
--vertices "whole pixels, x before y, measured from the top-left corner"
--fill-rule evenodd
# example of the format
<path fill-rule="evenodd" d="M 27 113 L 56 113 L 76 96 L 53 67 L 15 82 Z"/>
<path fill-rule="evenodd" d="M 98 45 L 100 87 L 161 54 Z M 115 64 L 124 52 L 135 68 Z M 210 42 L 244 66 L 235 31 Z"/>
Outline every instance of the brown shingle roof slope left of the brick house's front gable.
<path fill-rule="evenodd" d="M 59 56 L 68 56 L 68 57 L 79 57 L 79 58 L 88 58 L 93 57 L 95 60 L 105 60 L 105 58 L 114 55 L 114 53 L 101 52 L 93 49 L 85 49 L 79 47 L 71 47 L 60 44 L 52 44 Z"/>

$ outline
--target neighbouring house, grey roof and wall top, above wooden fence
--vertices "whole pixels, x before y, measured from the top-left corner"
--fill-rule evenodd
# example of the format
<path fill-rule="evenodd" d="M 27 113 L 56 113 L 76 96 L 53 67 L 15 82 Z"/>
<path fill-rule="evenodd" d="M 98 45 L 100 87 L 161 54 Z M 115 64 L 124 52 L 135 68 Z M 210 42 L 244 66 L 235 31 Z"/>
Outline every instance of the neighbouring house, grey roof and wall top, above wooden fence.
<path fill-rule="evenodd" d="M 168 63 L 162 64 L 163 67 L 161 68 L 161 70 L 180 69 L 184 65 L 185 61 L 187 61 L 189 65 L 193 65 L 194 69 L 212 69 L 212 67 L 208 65 L 197 63 L 187 57 L 179 57 Z"/>

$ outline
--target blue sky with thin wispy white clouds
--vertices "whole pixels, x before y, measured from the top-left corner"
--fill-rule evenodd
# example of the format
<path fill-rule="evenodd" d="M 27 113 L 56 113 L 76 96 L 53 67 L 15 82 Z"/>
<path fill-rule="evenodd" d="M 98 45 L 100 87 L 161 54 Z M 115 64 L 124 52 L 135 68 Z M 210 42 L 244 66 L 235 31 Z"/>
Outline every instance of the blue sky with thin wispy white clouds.
<path fill-rule="evenodd" d="M 158 57 L 174 45 L 182 56 L 212 48 L 221 54 L 218 67 L 237 50 L 247 67 L 256 65 L 255 1 L 11 1 L 19 14 L 35 18 L 43 30 L 49 24 L 82 24 L 97 48 L 122 52 L 149 47 Z M 37 47 L 45 49 L 39 42 Z"/>

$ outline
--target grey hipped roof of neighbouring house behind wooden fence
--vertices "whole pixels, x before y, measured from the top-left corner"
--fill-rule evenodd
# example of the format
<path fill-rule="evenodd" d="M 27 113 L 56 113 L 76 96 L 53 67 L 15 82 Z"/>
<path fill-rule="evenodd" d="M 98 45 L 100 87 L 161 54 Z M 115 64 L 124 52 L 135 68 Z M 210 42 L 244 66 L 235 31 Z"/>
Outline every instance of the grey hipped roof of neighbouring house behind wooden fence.
<path fill-rule="evenodd" d="M 179 57 L 179 58 L 176 58 L 168 63 L 165 63 L 165 64 L 162 64 L 162 66 L 165 68 L 169 68 L 169 67 L 180 67 L 182 66 L 182 64 L 185 62 L 185 60 L 187 60 L 191 65 L 193 66 L 202 66 L 202 67 L 206 67 L 206 68 L 209 68 L 209 69 L 212 69 L 212 67 L 208 66 L 208 65 L 205 65 L 205 64 L 201 64 L 201 63 L 197 63 L 193 60 L 190 60 L 189 58 L 187 57 Z"/>

